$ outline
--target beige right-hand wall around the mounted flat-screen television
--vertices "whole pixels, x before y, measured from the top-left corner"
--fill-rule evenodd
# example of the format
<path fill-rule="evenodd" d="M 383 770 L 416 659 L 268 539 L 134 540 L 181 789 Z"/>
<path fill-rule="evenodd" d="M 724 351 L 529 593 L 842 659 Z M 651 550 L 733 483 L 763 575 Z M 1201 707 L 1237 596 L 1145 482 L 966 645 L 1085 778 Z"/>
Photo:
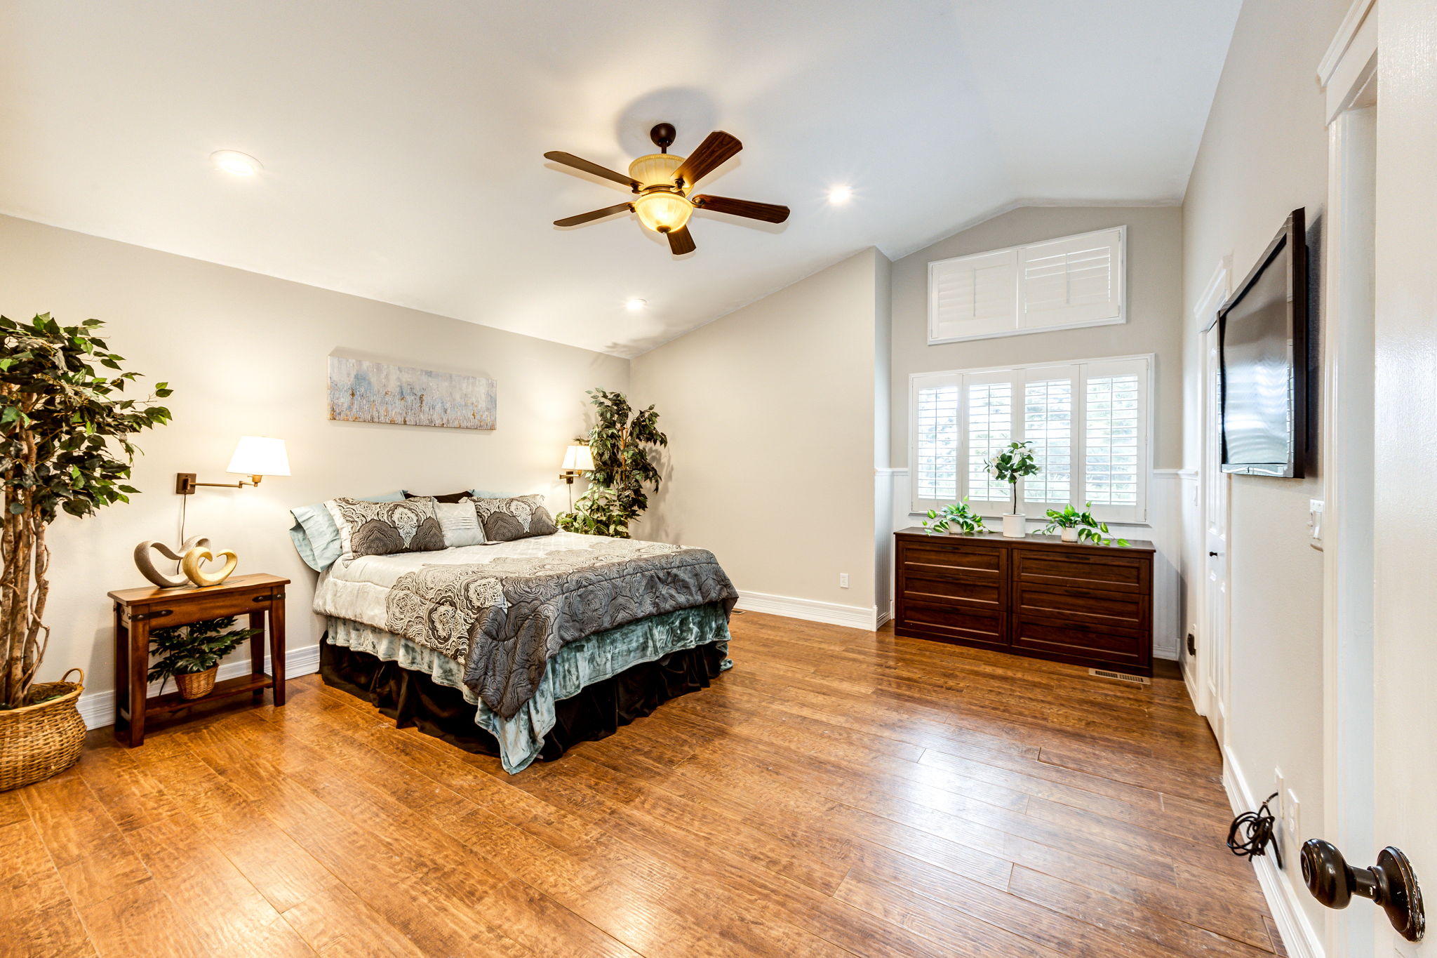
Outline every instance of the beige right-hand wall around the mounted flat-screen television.
<path fill-rule="evenodd" d="M 1348 0 L 1243 6 L 1183 207 L 1188 309 L 1224 256 L 1232 256 L 1234 286 L 1240 283 L 1293 208 L 1306 207 L 1309 243 L 1319 236 L 1328 147 L 1315 70 L 1346 9 Z M 1319 277 L 1316 244 L 1311 264 Z M 1187 348 L 1188 395 L 1196 398 L 1196 338 Z M 1198 415 L 1193 402 L 1186 429 L 1193 467 Z M 1308 536 L 1308 500 L 1322 497 L 1319 455 L 1311 451 L 1308 478 L 1232 480 L 1229 549 L 1232 755 L 1259 800 L 1273 791 L 1273 768 L 1280 767 L 1312 834 L 1323 816 L 1322 553 Z M 1197 543 L 1193 554 L 1196 563 Z M 1283 855 L 1295 860 L 1296 846 Z M 1298 899 L 1321 928 L 1322 908 L 1306 893 Z"/>

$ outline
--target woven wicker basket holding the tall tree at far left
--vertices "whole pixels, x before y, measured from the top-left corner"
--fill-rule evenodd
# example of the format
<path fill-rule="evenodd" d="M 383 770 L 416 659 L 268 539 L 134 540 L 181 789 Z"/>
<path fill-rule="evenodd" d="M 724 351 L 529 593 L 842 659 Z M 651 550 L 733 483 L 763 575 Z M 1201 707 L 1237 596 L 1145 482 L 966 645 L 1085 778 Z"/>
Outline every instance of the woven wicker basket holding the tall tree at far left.
<path fill-rule="evenodd" d="M 68 681 L 70 672 L 79 672 L 80 681 Z M 76 702 L 82 691 L 83 669 L 70 669 L 59 682 L 30 687 L 32 701 L 60 692 L 57 698 L 0 710 L 0 791 L 42 781 L 79 761 L 85 745 L 85 720 Z"/>

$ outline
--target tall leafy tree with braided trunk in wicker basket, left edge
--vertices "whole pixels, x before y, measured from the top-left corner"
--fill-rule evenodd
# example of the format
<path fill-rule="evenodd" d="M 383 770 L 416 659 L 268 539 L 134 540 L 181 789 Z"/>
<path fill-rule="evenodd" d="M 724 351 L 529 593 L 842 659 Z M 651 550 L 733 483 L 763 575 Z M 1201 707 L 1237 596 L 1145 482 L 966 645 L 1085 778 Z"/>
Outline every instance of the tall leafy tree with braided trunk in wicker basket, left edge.
<path fill-rule="evenodd" d="M 62 510 L 83 518 L 128 503 L 138 491 L 125 484 L 131 437 L 170 422 L 154 404 L 170 395 L 165 383 L 152 398 L 125 396 L 138 373 L 121 371 L 101 326 L 0 316 L 0 790 L 69 768 L 85 740 L 75 705 L 83 674 L 34 682 L 50 635 L 46 527 Z"/>

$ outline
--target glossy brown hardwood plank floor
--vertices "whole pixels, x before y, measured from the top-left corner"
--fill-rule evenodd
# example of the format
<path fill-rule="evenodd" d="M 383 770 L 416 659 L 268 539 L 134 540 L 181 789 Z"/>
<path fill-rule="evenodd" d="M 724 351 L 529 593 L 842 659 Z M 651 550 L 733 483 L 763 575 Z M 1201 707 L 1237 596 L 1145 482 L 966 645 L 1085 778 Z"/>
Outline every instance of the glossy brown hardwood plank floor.
<path fill-rule="evenodd" d="M 759 613 L 506 776 L 318 676 L 0 793 L 4 955 L 1280 954 L 1181 682 Z"/>

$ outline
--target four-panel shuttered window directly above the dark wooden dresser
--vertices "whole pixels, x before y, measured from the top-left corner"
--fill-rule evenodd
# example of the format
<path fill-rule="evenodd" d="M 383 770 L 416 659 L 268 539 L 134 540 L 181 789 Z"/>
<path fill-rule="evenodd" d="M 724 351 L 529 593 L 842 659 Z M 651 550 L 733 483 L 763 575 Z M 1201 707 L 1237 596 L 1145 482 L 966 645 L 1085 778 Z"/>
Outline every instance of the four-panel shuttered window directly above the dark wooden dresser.
<path fill-rule="evenodd" d="M 1151 358 L 915 373 L 911 389 L 912 508 L 969 497 L 1000 516 L 1007 483 L 984 460 L 1029 441 L 1042 471 L 1019 483 L 1032 517 L 1065 503 L 1092 503 L 1098 518 L 1147 518 Z"/>

